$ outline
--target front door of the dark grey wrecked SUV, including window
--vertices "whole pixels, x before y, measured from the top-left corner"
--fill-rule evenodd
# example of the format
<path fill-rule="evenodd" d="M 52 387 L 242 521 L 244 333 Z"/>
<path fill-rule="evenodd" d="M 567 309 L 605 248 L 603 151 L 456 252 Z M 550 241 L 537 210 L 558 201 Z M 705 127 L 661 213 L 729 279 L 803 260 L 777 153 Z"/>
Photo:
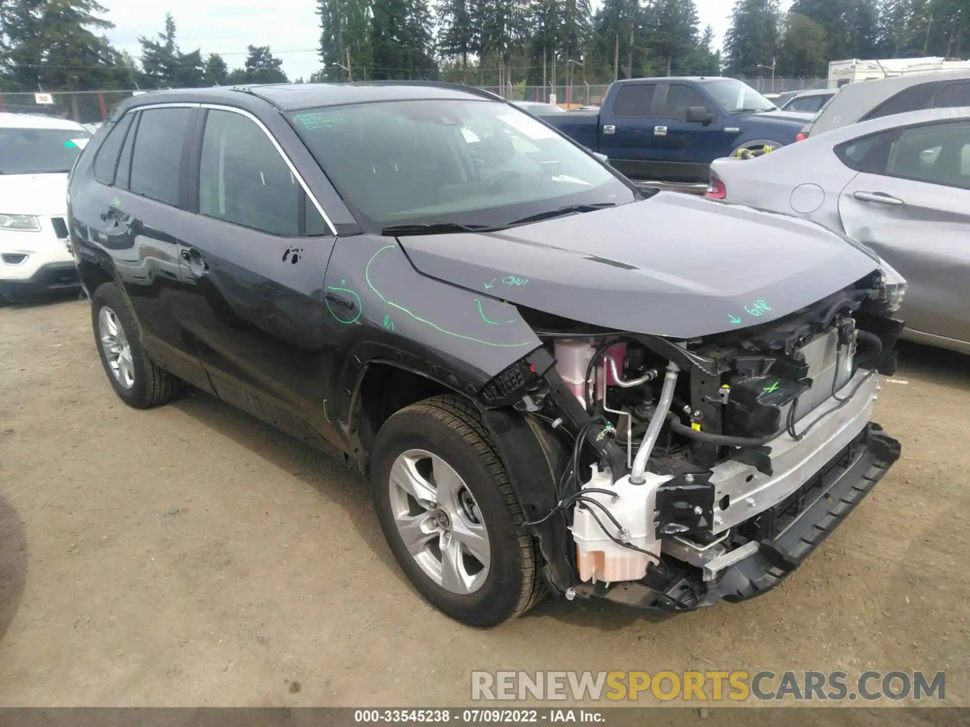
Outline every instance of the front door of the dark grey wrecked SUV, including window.
<path fill-rule="evenodd" d="M 199 358 L 220 398 L 307 441 L 338 442 L 323 405 L 335 237 L 254 116 L 203 112 L 181 230 Z"/>

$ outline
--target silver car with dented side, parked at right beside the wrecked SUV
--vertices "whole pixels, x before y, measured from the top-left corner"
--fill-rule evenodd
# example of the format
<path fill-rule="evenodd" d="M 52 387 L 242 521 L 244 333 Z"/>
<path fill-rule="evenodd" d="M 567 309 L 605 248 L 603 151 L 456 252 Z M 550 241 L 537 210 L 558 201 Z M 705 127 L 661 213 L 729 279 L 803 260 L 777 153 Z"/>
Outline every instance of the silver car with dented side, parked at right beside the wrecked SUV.
<path fill-rule="evenodd" d="M 718 160 L 708 195 L 863 242 L 909 283 L 903 335 L 970 353 L 970 108 L 884 116 L 760 159 Z"/>

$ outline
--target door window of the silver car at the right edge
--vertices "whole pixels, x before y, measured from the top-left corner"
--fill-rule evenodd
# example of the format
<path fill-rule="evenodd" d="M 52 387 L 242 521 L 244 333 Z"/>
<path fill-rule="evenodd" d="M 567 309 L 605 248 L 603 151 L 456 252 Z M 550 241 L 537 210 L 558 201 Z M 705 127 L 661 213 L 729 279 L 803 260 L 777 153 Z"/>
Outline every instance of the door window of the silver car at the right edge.
<path fill-rule="evenodd" d="M 970 189 L 970 121 L 903 129 L 886 174 Z"/>

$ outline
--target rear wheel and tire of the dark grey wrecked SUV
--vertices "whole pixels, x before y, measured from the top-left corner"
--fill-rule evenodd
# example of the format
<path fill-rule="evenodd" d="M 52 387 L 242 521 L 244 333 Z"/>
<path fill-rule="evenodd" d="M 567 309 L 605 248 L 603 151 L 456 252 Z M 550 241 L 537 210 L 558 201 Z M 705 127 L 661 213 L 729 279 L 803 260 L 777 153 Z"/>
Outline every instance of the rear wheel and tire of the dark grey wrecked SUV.
<path fill-rule="evenodd" d="M 104 323 L 103 315 L 106 317 Z M 114 324 L 114 331 L 119 332 L 114 336 L 113 344 L 109 344 L 108 339 L 102 335 L 103 331 L 112 331 L 111 322 Z M 154 364 L 142 349 L 135 316 L 116 283 L 104 283 L 94 291 L 91 296 L 91 324 L 101 365 L 104 366 L 114 393 L 122 401 L 136 409 L 147 409 L 164 404 L 176 395 L 178 379 Z M 121 355 L 110 353 L 110 347 L 120 349 Z"/>

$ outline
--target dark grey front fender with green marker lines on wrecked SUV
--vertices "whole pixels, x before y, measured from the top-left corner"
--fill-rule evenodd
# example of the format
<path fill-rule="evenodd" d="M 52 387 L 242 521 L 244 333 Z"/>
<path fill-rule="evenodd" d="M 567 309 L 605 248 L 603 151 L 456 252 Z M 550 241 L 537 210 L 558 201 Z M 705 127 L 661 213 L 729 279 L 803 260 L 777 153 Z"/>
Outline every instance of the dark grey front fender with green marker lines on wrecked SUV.
<path fill-rule="evenodd" d="M 415 270 L 394 237 L 340 237 L 324 294 L 324 339 L 335 362 L 328 416 L 348 426 L 357 381 L 375 361 L 474 395 L 538 348 L 515 306 L 496 296 L 498 283 L 459 288 Z"/>

